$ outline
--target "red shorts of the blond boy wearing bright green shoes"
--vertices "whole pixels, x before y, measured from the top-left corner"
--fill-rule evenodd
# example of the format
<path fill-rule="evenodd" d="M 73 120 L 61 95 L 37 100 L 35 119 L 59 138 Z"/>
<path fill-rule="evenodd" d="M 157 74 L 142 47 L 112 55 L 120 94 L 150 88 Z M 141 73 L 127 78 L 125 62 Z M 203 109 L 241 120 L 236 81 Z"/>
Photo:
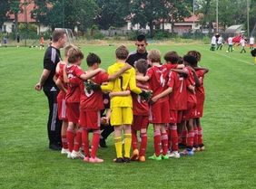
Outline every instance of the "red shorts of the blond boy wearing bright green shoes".
<path fill-rule="evenodd" d="M 156 124 L 170 123 L 169 101 L 154 103 L 150 106 L 149 121 Z"/>

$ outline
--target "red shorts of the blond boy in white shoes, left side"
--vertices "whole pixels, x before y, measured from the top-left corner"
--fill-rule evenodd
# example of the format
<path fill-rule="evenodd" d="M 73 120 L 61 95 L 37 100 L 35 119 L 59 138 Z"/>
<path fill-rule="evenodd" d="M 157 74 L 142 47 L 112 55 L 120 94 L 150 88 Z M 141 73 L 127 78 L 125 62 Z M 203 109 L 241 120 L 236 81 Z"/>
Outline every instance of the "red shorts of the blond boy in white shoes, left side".
<path fill-rule="evenodd" d="M 79 102 L 66 103 L 65 105 L 68 122 L 77 124 L 79 119 Z"/>

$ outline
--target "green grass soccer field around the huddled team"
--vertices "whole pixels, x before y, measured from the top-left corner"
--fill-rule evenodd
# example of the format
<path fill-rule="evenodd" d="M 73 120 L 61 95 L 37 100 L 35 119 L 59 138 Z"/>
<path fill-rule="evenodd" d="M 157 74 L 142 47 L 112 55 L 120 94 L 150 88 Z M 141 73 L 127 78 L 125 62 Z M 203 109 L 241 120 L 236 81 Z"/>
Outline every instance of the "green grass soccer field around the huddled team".
<path fill-rule="evenodd" d="M 102 67 L 114 62 L 116 46 L 89 45 Z M 135 46 L 129 46 L 133 50 Z M 48 149 L 47 99 L 34 90 L 43 70 L 44 51 L 0 48 L 0 188 L 256 188 L 256 66 L 249 50 L 210 52 L 209 45 L 149 44 L 162 55 L 202 52 L 206 101 L 202 128 L 206 150 L 195 156 L 145 163 L 114 164 L 113 137 L 99 148 L 103 164 L 67 159 Z M 163 59 L 162 59 L 163 60 Z M 82 67 L 86 69 L 86 62 Z M 153 155 L 150 127 L 146 156 Z"/>

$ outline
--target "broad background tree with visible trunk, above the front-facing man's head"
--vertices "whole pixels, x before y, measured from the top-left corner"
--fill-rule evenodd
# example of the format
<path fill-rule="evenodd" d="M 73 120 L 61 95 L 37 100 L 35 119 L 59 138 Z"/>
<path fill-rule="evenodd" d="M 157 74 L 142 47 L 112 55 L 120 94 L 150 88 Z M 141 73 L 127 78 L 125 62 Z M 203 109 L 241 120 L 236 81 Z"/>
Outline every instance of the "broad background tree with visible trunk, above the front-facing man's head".
<path fill-rule="evenodd" d="M 133 0 L 131 2 L 132 24 L 148 25 L 150 35 L 153 29 L 162 20 L 162 23 L 176 22 L 190 15 L 191 3 L 189 0 Z"/>

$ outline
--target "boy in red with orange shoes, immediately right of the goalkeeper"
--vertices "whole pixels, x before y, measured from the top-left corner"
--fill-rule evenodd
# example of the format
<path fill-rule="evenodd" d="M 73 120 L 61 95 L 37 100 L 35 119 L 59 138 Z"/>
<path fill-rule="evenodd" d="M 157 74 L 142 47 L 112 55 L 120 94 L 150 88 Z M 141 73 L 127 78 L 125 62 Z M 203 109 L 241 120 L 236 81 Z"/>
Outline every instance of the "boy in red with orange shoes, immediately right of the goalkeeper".
<path fill-rule="evenodd" d="M 134 63 L 136 75 L 144 76 L 148 69 L 147 61 L 140 59 Z M 142 90 L 149 90 L 148 82 L 136 80 L 136 85 Z M 133 93 L 133 125 L 132 125 L 132 146 L 133 156 L 131 160 L 138 160 L 140 162 L 145 161 L 145 151 L 147 147 L 147 128 L 149 124 L 149 105 L 146 100 L 141 96 Z M 140 151 L 137 148 L 137 131 L 140 131 L 140 137 L 142 139 Z"/>

